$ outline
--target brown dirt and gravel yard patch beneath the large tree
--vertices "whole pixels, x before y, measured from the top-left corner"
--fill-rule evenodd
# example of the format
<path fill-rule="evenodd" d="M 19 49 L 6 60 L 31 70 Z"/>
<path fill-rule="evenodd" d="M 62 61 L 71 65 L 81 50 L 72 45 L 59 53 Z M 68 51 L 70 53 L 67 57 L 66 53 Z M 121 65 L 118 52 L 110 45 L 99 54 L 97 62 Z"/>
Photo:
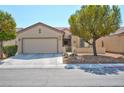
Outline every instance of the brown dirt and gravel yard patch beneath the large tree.
<path fill-rule="evenodd" d="M 96 63 L 124 63 L 123 57 L 110 57 L 110 56 L 93 56 L 93 55 L 83 55 L 83 56 L 69 56 L 64 58 L 64 64 L 96 64 Z"/>

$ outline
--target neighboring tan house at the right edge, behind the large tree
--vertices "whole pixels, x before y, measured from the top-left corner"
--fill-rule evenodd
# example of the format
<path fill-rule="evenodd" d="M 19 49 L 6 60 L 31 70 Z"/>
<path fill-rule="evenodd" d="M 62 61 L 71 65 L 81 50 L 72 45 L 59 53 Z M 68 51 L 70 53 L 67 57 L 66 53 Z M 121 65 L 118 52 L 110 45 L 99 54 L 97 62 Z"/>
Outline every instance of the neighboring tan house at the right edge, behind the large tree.
<path fill-rule="evenodd" d="M 124 27 L 97 40 L 97 47 L 104 47 L 106 52 L 124 53 Z"/>

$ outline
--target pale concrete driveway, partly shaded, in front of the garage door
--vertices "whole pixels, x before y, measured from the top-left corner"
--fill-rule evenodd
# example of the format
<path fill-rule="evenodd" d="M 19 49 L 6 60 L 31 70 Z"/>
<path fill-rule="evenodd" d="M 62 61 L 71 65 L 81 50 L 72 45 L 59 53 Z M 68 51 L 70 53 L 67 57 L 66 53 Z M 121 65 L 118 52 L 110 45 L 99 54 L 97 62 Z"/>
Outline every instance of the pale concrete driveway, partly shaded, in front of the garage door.
<path fill-rule="evenodd" d="M 0 67 L 56 66 L 62 62 L 62 54 L 20 54 L 3 60 Z"/>

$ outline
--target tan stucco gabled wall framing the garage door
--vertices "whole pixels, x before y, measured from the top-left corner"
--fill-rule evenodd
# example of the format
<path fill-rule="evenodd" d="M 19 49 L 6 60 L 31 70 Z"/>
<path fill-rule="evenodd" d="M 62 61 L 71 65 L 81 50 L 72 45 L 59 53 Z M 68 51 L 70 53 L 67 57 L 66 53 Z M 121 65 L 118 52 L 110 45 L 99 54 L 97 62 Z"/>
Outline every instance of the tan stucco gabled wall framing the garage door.
<path fill-rule="evenodd" d="M 39 33 L 39 29 L 41 29 L 41 33 Z M 41 24 L 36 25 L 32 28 L 26 29 L 18 34 L 18 53 L 22 53 L 22 39 L 23 38 L 45 38 L 45 37 L 56 37 L 58 38 L 58 51 L 62 52 L 62 37 L 63 34 L 50 29 L 49 27 L 45 27 Z M 52 43 L 49 44 L 49 46 Z M 46 46 L 46 47 L 49 47 Z M 30 46 L 29 46 L 30 47 Z"/>

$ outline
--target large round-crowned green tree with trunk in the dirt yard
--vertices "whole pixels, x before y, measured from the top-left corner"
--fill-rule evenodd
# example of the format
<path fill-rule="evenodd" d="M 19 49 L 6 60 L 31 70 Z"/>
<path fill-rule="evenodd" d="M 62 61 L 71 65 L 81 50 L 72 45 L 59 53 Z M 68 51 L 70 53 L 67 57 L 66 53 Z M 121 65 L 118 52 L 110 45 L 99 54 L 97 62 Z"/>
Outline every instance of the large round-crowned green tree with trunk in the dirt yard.
<path fill-rule="evenodd" d="M 120 8 L 115 5 L 84 5 L 69 18 L 70 31 L 93 46 L 94 56 L 96 40 L 116 31 L 120 23 Z"/>

